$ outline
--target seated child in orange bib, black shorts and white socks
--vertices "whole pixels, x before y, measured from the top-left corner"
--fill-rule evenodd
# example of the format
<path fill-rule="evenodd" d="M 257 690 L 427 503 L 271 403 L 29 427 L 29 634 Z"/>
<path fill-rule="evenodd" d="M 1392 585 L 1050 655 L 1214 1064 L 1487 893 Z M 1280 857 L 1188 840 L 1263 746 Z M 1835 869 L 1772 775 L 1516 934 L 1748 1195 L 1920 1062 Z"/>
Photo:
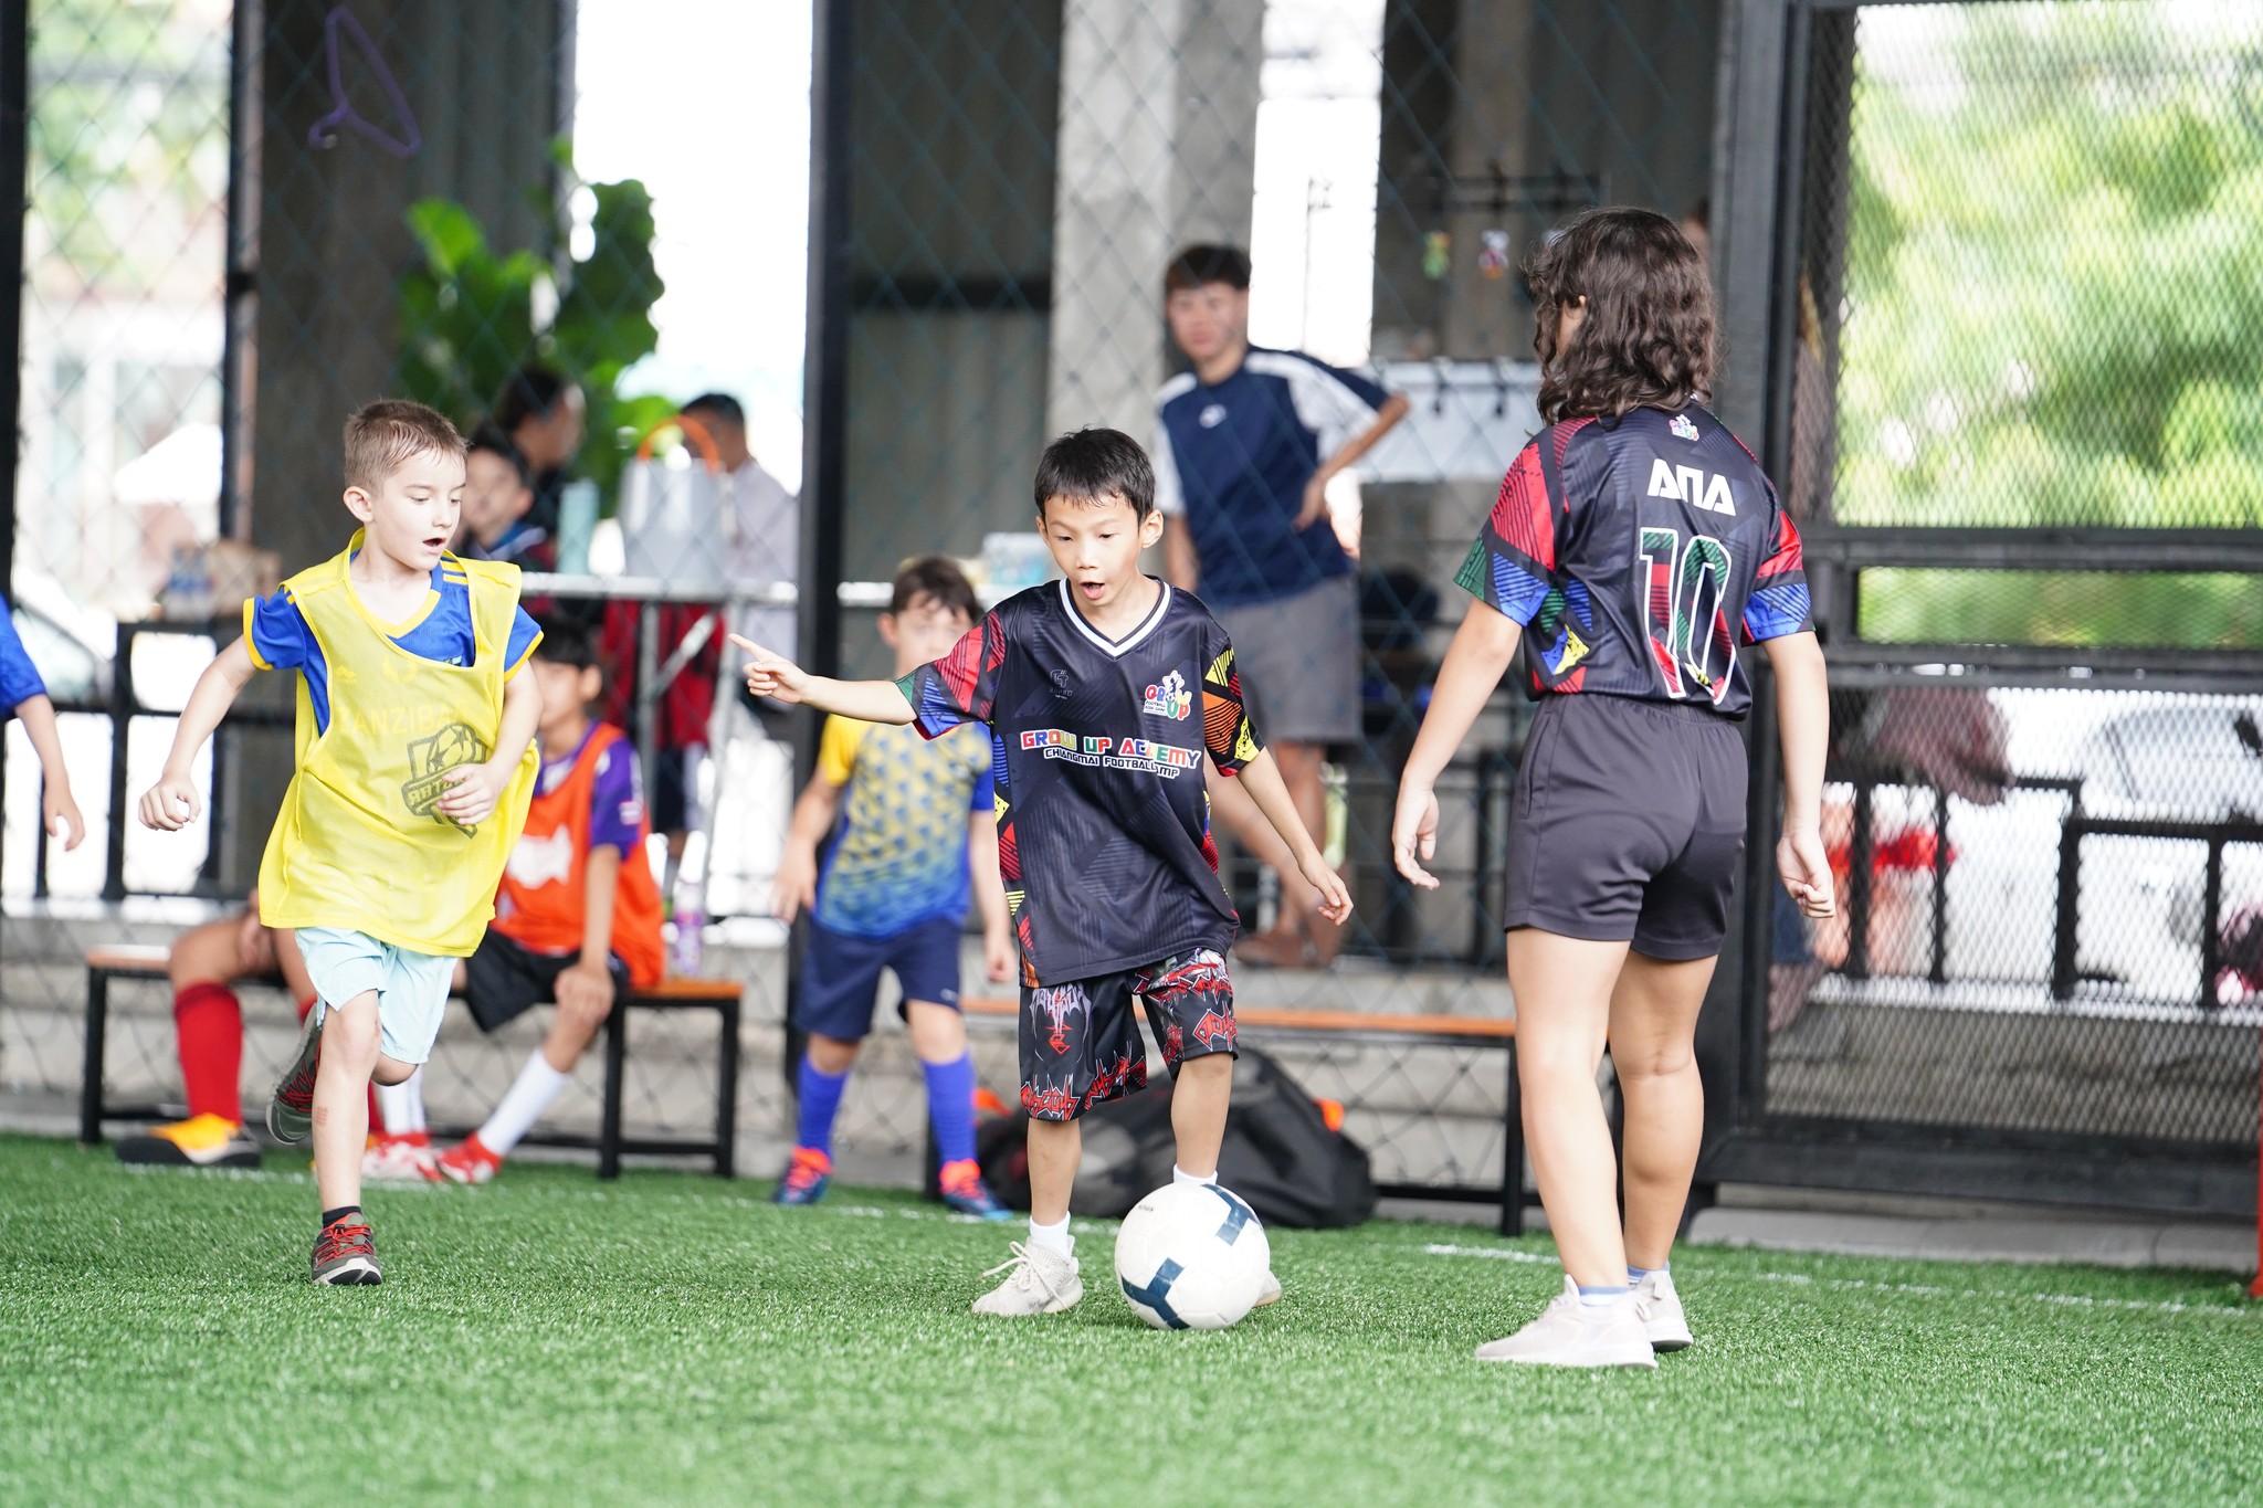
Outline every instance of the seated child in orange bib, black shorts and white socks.
<path fill-rule="evenodd" d="M 591 719 L 604 671 L 588 629 L 563 615 L 541 619 L 541 629 L 543 769 L 527 827 L 502 866 L 496 920 L 455 979 L 480 1031 L 550 999 L 557 1017 L 487 1124 L 439 1155 L 441 1176 L 464 1185 L 502 1169 L 613 1004 L 661 977 L 661 886 L 645 857 L 652 827 L 636 748 L 620 728 Z"/>

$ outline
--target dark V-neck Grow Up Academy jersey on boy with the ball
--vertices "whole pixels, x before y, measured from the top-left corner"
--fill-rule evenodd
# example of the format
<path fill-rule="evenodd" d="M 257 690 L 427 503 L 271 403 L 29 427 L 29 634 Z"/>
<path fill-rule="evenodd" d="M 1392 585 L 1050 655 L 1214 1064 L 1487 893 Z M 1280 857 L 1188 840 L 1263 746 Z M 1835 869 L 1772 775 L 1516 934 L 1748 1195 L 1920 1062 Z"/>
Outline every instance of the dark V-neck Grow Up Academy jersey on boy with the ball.
<path fill-rule="evenodd" d="M 989 723 L 1023 983 L 1233 945 L 1202 755 L 1233 773 L 1260 744 L 1233 644 L 1199 601 L 1163 586 L 1145 622 L 1109 642 L 1068 583 L 1048 581 L 896 685 L 928 737 Z"/>

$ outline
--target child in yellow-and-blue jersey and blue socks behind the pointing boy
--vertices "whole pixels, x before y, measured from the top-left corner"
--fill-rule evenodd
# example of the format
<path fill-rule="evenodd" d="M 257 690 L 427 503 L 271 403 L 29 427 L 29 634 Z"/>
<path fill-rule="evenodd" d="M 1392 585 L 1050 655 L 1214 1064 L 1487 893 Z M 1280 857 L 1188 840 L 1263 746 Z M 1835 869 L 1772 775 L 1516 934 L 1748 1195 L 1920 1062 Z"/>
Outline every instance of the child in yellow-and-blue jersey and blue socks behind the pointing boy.
<path fill-rule="evenodd" d="M 957 565 L 941 556 L 905 565 L 880 615 L 896 674 L 941 658 L 980 615 L 975 590 Z M 840 821 L 844 807 L 846 821 Z M 966 814 L 966 823 L 955 814 Z M 817 846 L 828 837 L 833 848 L 819 866 Z M 810 909 L 810 945 L 794 997 L 794 1026 L 810 1035 L 810 1047 L 799 1072 L 794 1155 L 776 1203 L 810 1205 L 826 1191 L 833 1115 L 871 1031 L 874 990 L 887 968 L 896 970 L 898 1008 L 928 1076 L 944 1203 L 991 1221 L 1009 1219 L 975 1167 L 975 1067 L 960 1020 L 969 891 L 982 907 L 989 977 L 1005 983 L 1014 972 L 1014 941 L 998 882 L 989 739 L 964 730 L 930 744 L 905 726 L 826 719 L 817 773 L 794 803 L 772 902 L 788 922 L 794 911 Z"/>

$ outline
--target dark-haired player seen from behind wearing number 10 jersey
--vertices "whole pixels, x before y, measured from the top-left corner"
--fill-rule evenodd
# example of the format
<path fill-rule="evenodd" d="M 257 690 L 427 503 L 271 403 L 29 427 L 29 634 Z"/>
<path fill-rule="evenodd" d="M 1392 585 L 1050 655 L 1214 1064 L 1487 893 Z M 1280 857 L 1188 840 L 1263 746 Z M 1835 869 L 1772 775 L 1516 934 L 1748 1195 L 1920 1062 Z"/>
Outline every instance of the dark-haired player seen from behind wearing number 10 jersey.
<path fill-rule="evenodd" d="M 1507 927 L 1532 1173 L 1564 1293 L 1485 1361 L 1657 1366 L 1690 1343 L 1668 1277 L 1704 1090 L 1693 1040 L 1745 852 L 1761 644 L 1783 730 L 1776 868 L 1831 916 L 1817 832 L 1829 703 L 1799 534 L 1752 452 L 1700 402 L 1704 260 L 1650 210 L 1589 210 L 1530 265 L 1541 416 L 1460 583 L 1475 595 L 1408 755 L 1399 870 L 1435 886 L 1432 782 L 1523 649 L 1539 701 L 1509 807 Z M 1625 1101 L 1625 1223 L 1595 1092 Z"/>

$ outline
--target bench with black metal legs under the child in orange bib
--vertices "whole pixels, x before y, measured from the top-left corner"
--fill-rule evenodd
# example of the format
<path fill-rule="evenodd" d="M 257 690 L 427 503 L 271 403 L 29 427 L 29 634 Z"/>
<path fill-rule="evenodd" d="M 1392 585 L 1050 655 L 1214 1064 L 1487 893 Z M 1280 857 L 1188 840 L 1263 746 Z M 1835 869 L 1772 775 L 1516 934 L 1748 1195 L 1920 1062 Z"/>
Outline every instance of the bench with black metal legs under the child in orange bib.
<path fill-rule="evenodd" d="M 79 1081 L 79 1142 L 102 1139 L 102 1121 L 163 1121 L 172 1112 L 161 1106 L 113 1106 L 104 1099 L 102 1067 L 111 1015 L 111 979 L 165 979 L 163 947 L 88 947 L 86 950 L 86 1069 Z M 269 981 L 272 983 L 272 981 Z M 742 988 L 733 979 L 661 979 L 631 990 L 604 1017 L 604 1092 L 597 1135 L 534 1133 L 536 1146 L 595 1149 L 597 1178 L 620 1178 L 620 1155 L 692 1155 L 713 1158 L 715 1176 L 731 1178 L 738 1144 L 738 1015 Z M 625 1137 L 620 1133 L 620 1097 L 629 1063 L 631 1011 L 713 1011 L 720 1024 L 715 1063 L 715 1135 L 713 1139 Z M 468 1128 L 444 1128 L 448 1135 Z"/>

